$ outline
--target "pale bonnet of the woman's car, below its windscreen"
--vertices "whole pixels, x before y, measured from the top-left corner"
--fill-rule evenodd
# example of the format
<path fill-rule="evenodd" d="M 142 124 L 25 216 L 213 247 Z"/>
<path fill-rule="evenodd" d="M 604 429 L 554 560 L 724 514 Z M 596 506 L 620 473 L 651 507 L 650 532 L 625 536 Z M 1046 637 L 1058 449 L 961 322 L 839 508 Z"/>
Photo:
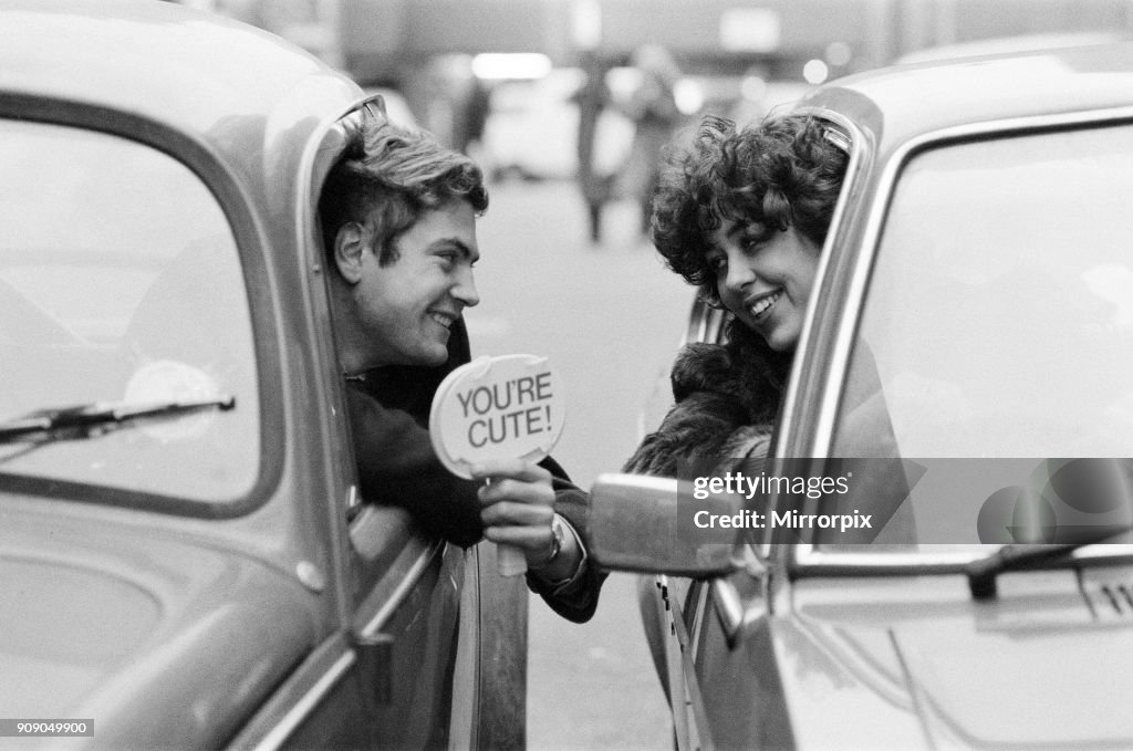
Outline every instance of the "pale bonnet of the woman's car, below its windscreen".
<path fill-rule="evenodd" d="M 798 707 L 801 748 L 1133 739 L 1113 703 L 1133 688 L 1127 665 L 1099 659 L 1125 654 L 1133 632 L 1098 623 L 1072 571 L 1005 574 L 997 601 L 976 607 L 962 577 L 855 579 L 849 595 L 838 580 L 807 580 L 792 595 L 778 658 L 795 676 L 787 706 Z M 819 711 L 827 722 L 802 722 Z M 902 726 L 911 740 L 888 735 Z"/>

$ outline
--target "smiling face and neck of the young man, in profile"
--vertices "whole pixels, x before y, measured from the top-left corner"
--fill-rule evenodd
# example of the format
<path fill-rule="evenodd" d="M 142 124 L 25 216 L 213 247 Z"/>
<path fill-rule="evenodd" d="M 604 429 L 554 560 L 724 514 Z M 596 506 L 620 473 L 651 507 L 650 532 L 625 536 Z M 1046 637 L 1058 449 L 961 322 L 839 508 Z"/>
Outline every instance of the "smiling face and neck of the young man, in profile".
<path fill-rule="evenodd" d="M 479 259 L 476 215 L 465 200 L 426 211 L 394 242 L 398 258 L 380 266 L 364 254 L 353 289 L 369 367 L 442 365 L 449 327 L 480 301 L 472 281 Z"/>

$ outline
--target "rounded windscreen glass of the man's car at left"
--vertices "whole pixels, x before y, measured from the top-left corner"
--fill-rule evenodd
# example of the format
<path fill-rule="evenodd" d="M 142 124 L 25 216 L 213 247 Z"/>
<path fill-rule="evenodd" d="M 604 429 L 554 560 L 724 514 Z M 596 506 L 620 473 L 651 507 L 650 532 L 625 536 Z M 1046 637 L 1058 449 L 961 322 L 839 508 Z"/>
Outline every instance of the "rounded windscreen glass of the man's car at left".
<path fill-rule="evenodd" d="M 0 473 L 22 487 L 208 502 L 252 488 L 248 302 L 232 231 L 196 174 L 125 138 L 0 120 L 0 373 L 3 423 L 92 403 L 236 400 L 104 435 L 0 443 Z"/>

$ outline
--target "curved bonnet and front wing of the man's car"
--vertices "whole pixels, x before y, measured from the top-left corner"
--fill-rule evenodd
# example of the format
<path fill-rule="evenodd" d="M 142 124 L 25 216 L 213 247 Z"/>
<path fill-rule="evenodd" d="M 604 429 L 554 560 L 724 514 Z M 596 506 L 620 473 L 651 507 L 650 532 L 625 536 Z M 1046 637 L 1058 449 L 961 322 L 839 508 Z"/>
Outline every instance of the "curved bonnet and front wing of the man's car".
<path fill-rule="evenodd" d="M 0 543 L 9 715 L 99 718 L 108 748 L 216 745 L 315 641 L 317 598 L 263 562 L 17 503 Z M 138 716 L 164 719 L 138 732 Z"/>

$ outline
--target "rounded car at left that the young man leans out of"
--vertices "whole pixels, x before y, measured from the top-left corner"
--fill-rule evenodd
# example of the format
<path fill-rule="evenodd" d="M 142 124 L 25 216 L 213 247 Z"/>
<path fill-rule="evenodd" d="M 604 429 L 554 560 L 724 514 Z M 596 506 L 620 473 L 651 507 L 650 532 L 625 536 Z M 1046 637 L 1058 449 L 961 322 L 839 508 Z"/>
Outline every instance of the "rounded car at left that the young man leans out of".
<path fill-rule="evenodd" d="M 5 734 L 522 737 L 522 583 L 358 495 L 316 206 L 380 109 L 220 16 L 0 2 Z"/>

